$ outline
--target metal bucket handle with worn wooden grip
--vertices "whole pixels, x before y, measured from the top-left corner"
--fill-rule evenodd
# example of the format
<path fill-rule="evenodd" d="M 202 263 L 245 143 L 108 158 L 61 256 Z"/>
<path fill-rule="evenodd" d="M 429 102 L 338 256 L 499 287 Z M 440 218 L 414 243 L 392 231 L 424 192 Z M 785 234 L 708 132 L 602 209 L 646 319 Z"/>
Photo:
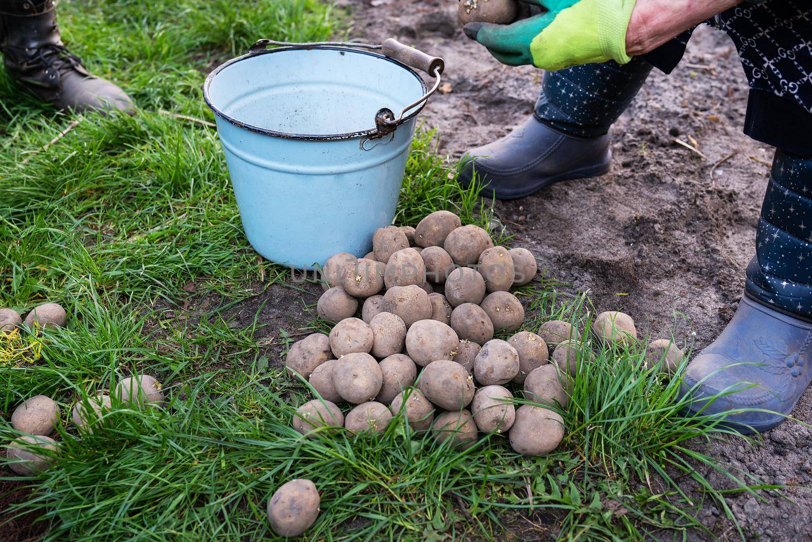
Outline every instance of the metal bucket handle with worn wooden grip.
<path fill-rule="evenodd" d="M 440 57 L 433 57 L 430 54 L 425 54 L 421 50 L 415 49 L 414 47 L 405 46 L 404 44 L 400 43 L 400 41 L 397 41 L 391 37 L 384 41 L 380 46 L 369 43 L 358 43 L 356 41 L 311 41 L 306 43 L 292 43 L 287 41 L 262 39 L 257 40 L 253 46 L 248 49 L 248 53 L 260 53 L 261 51 L 265 50 L 267 46 L 342 46 L 355 47 L 358 49 L 380 50 L 381 53 L 387 58 L 395 59 L 400 63 L 406 64 L 408 67 L 421 70 L 421 72 L 425 72 L 429 76 L 434 77 L 434 85 L 431 87 L 431 89 L 427 90 L 421 96 L 421 98 L 418 98 L 408 106 L 405 106 L 400 111 L 400 115 L 398 115 L 397 118 L 395 118 L 395 112 L 388 107 L 382 107 L 379 109 L 378 113 L 375 114 L 375 128 L 377 133 L 374 136 L 369 137 L 369 139 L 377 139 L 379 137 L 387 136 L 392 132 L 395 132 L 395 129 L 397 129 L 400 124 L 404 124 L 404 122 L 410 119 L 411 117 L 408 116 L 408 112 L 427 102 L 431 95 L 437 92 L 437 89 L 440 86 L 440 75 L 443 73 L 443 70 L 445 70 L 446 67 L 446 63 Z"/>

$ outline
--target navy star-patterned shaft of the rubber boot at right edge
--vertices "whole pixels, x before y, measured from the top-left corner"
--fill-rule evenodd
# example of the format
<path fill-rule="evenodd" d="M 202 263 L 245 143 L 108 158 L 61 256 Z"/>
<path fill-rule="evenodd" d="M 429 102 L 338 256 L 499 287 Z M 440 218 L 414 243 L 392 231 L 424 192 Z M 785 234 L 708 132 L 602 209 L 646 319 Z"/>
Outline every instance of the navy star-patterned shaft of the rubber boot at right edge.
<path fill-rule="evenodd" d="M 812 319 L 812 158 L 775 152 L 745 292 Z"/>

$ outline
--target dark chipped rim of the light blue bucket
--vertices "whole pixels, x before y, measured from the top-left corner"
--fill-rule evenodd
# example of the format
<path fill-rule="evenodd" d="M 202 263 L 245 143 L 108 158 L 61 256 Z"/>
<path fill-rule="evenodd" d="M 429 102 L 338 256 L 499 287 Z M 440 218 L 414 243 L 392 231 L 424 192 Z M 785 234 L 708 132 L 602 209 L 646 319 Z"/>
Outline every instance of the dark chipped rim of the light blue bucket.
<path fill-rule="evenodd" d="M 262 128 L 261 126 L 257 126 L 255 124 L 248 124 L 244 123 L 241 120 L 237 120 L 234 117 L 227 115 L 222 109 L 218 106 L 215 106 L 211 100 L 211 96 L 209 95 L 209 87 L 211 86 L 212 81 L 215 77 L 218 76 L 218 73 L 222 72 L 225 68 L 231 66 L 232 64 L 241 62 L 245 59 L 253 59 L 254 57 L 260 56 L 261 54 L 274 54 L 274 53 L 282 53 L 292 50 L 313 50 L 313 49 L 322 49 L 322 50 L 339 50 L 345 51 L 347 53 L 354 53 L 354 54 L 368 54 L 369 56 L 376 57 L 378 59 L 387 60 L 393 64 L 396 64 L 399 67 L 402 67 L 407 72 L 411 73 L 415 79 L 420 83 L 421 89 L 425 94 L 427 91 L 427 87 L 425 86 L 425 81 L 423 78 L 415 72 L 411 67 L 408 67 L 406 64 L 401 63 L 395 59 L 391 59 L 383 54 L 374 53 L 372 51 L 366 50 L 356 50 L 351 49 L 348 47 L 339 47 L 339 46 L 287 46 L 287 47 L 277 47 L 275 49 L 269 50 L 262 50 L 257 53 L 248 53 L 242 54 L 234 59 L 228 60 L 225 63 L 220 64 L 218 67 L 214 68 L 214 70 L 206 76 L 205 81 L 203 83 L 203 99 L 209 109 L 214 112 L 214 115 L 217 115 L 221 119 L 225 120 L 229 124 L 233 124 L 237 128 L 243 128 L 250 132 L 257 132 L 261 133 L 266 136 L 271 137 L 283 137 L 284 139 L 298 139 L 298 140 L 308 140 L 308 141 L 338 141 L 344 139 L 353 139 L 356 137 L 375 137 L 378 136 L 378 128 L 369 128 L 367 130 L 361 130 L 358 132 L 344 132 L 344 133 L 335 133 L 335 134 L 313 134 L 313 133 L 299 133 L 299 132 L 280 132 L 279 130 L 272 130 L 270 128 Z M 412 111 L 409 115 L 406 115 L 403 119 L 403 122 L 407 122 L 408 120 L 413 119 L 417 115 L 423 111 L 423 107 L 425 107 L 426 102 L 422 102 L 420 106 L 417 106 L 417 109 Z"/>

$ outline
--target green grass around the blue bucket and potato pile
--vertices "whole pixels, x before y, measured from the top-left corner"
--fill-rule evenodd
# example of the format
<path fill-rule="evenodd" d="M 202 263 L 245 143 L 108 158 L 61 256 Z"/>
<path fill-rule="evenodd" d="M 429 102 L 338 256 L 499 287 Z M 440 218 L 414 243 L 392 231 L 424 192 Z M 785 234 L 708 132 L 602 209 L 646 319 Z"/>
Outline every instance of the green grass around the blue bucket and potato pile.
<path fill-rule="evenodd" d="M 58 468 L 30 481 L 32 496 L 12 513 L 42 514 L 50 540 L 254 540 L 272 536 L 264 510 L 274 488 L 307 477 L 322 493 L 309 540 L 496 539 L 501 523 L 539 511 L 568 540 L 638 540 L 662 529 L 679 538 L 702 528 L 692 511 L 703 496 L 732 518 L 728 493 L 697 468 L 715 462 L 689 444 L 726 431 L 680 414 L 678 379 L 647 371 L 637 343 L 584 345 L 595 361 L 576 376 L 562 413 L 567 436 L 546 457 L 521 457 L 498 435 L 448 449 L 412 438 L 400 418 L 378 437 L 301 438 L 291 410 L 307 390 L 267 355 L 323 323 L 303 321 L 269 345 L 269 330 L 257 321 L 231 327 L 222 307 L 194 321 L 160 318 L 166 306 L 182 310 L 186 284 L 196 284 L 197 299 L 235 302 L 287 275 L 258 262 L 245 241 L 214 130 L 158 111 L 211 120 L 201 99 L 208 69 L 257 37 L 325 39 L 345 22 L 313 0 L 59 10 L 71 49 L 123 85 L 140 113 L 88 115 L 37 153 L 77 117 L 42 106 L 0 71 L 0 306 L 58 301 L 70 314 L 67 329 L 43 338 L 0 340 L 2 412 L 45 393 L 63 405 L 65 422 Z M 451 209 L 509 243 L 490 204 L 435 154 L 434 137 L 422 132 L 413 146 L 395 221 Z M 589 300 L 558 295 L 558 285 L 544 275 L 520 288 L 530 307 L 524 327 L 564 318 L 589 337 Z M 79 436 L 71 406 L 132 371 L 166 383 L 171 405 L 115 405 L 109 428 Z M 0 422 L 0 440 L 14 437 Z M 736 491 L 760 485 L 730 475 Z M 682 492 L 681 478 L 702 492 Z"/>

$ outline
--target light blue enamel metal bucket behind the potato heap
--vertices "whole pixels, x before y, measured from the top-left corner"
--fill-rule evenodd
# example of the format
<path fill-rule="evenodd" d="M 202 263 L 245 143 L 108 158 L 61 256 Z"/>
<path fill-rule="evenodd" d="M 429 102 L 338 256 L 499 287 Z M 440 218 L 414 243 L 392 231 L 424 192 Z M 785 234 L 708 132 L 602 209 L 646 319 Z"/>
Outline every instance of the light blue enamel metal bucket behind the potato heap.
<path fill-rule="evenodd" d="M 395 215 L 430 93 L 383 54 L 268 43 L 278 42 L 258 41 L 204 85 L 245 235 L 263 257 L 299 269 L 338 252 L 360 257 Z"/>

